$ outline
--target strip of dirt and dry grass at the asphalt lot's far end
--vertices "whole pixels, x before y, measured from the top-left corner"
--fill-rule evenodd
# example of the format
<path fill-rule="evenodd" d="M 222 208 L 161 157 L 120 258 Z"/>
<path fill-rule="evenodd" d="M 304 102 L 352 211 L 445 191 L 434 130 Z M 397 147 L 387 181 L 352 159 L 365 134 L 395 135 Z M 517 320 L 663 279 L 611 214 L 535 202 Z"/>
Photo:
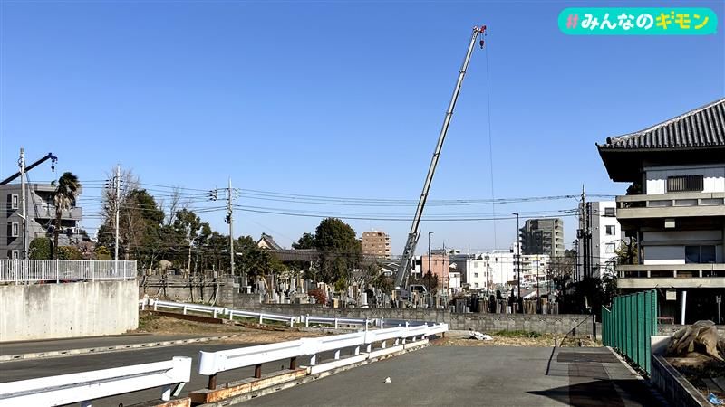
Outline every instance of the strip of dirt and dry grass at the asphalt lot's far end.
<path fill-rule="evenodd" d="M 469 339 L 467 331 L 451 331 L 446 337 L 433 341 L 433 345 L 439 346 L 554 346 L 554 340 L 559 346 L 601 346 L 601 342 L 581 336 L 567 336 L 554 334 L 536 334 L 527 332 L 505 332 L 489 334 L 493 336 L 492 341 L 478 341 Z M 564 339 L 564 340 L 563 340 Z"/>

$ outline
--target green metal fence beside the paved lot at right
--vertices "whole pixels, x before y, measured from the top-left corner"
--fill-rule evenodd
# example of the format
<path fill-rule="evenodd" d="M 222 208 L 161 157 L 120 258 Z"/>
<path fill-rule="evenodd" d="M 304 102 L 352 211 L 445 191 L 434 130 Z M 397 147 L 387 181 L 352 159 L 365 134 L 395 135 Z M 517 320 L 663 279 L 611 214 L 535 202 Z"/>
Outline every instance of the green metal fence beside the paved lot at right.
<path fill-rule="evenodd" d="M 657 292 L 644 291 L 614 298 L 602 307 L 602 342 L 650 373 L 652 345 L 657 335 Z"/>

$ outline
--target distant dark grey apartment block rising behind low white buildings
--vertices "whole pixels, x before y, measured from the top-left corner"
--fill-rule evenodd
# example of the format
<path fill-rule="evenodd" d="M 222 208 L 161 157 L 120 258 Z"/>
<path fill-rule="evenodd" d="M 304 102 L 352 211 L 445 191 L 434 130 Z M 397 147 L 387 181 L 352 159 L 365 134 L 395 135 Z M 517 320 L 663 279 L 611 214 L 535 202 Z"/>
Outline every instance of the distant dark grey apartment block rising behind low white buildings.
<path fill-rule="evenodd" d="M 522 255 L 564 256 L 564 222 L 560 218 L 528 219 L 520 238 Z"/>

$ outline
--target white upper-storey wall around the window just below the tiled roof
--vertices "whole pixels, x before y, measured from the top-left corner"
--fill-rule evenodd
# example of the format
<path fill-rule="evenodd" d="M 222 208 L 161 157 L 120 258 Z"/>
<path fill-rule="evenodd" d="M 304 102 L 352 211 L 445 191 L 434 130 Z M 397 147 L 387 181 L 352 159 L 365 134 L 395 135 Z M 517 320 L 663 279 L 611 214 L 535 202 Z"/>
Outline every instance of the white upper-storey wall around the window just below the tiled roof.
<path fill-rule="evenodd" d="M 667 177 L 703 175 L 702 192 L 725 192 L 725 166 L 652 166 L 644 168 L 647 183 L 645 194 L 667 194 Z"/>

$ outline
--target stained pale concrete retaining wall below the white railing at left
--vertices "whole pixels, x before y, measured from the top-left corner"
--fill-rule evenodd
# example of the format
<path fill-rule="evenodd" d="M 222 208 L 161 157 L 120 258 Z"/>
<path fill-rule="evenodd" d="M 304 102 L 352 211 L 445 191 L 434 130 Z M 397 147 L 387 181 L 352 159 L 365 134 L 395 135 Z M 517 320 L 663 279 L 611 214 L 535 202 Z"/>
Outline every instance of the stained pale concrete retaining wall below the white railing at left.
<path fill-rule="evenodd" d="M 0 286 L 0 342 L 136 329 L 138 290 L 136 280 Z"/>

